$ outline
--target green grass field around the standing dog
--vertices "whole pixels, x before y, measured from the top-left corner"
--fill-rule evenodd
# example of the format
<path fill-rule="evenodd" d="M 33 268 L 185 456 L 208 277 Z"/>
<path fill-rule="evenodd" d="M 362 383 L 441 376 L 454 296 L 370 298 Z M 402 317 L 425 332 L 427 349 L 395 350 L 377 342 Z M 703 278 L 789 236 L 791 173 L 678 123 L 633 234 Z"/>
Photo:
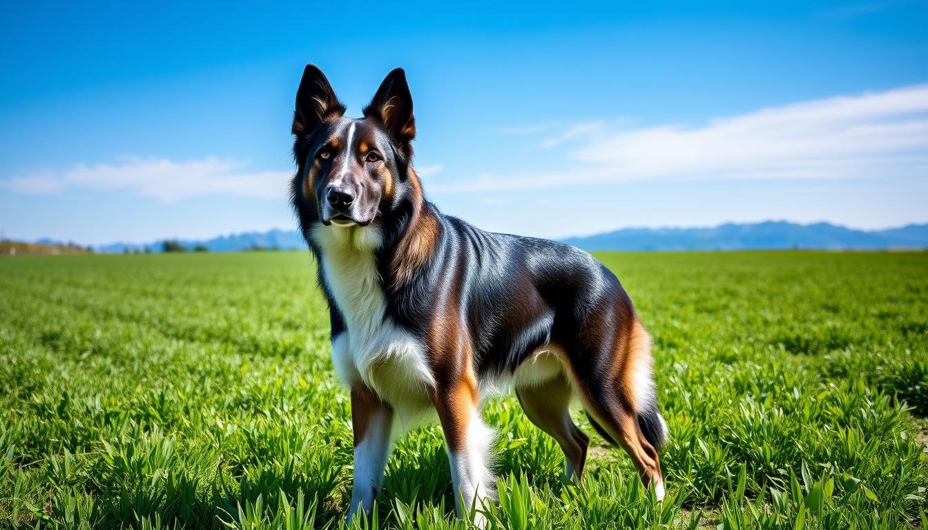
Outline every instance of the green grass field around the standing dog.
<path fill-rule="evenodd" d="M 602 253 L 654 336 L 668 498 L 592 438 L 581 485 L 516 400 L 506 528 L 928 530 L 928 253 Z M 0 257 L 0 528 L 337 527 L 348 396 L 305 252 Z M 380 527 L 463 527 L 437 426 Z"/>

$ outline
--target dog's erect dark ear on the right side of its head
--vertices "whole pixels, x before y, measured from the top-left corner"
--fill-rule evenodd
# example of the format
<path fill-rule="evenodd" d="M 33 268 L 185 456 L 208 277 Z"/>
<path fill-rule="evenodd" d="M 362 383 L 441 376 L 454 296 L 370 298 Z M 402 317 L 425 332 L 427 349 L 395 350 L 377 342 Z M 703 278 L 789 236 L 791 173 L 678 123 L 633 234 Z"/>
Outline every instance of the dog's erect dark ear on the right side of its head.
<path fill-rule="evenodd" d="M 406 157 L 412 154 L 410 142 L 416 137 L 416 118 L 412 115 L 412 95 L 402 68 L 387 74 L 377 94 L 364 108 L 364 117 L 382 123 Z"/>

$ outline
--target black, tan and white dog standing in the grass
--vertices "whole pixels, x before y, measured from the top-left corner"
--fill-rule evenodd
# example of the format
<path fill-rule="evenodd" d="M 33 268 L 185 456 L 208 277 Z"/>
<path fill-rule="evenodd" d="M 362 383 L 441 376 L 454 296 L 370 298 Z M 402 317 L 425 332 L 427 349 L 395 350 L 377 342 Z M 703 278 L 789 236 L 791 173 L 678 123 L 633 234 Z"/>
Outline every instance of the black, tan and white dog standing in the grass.
<path fill-rule="evenodd" d="M 588 438 L 622 446 L 664 498 L 651 337 L 619 280 L 574 247 L 485 232 L 425 199 L 412 165 L 412 97 L 391 71 L 364 109 L 344 116 L 310 64 L 291 132 L 293 209 L 329 303 L 333 365 L 351 391 L 354 485 L 348 521 L 370 513 L 397 432 L 437 412 L 458 515 L 494 498 L 488 389 L 515 388 L 525 415 L 564 452 L 579 480 Z"/>

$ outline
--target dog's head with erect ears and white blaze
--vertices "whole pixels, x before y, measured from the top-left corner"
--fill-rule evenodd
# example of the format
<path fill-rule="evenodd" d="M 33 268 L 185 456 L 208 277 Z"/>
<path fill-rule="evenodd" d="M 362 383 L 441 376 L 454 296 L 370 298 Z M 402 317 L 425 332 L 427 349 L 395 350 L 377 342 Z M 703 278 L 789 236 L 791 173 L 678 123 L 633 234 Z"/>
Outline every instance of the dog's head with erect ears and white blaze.
<path fill-rule="evenodd" d="M 323 225 L 367 226 L 409 194 L 416 125 L 406 73 L 387 75 L 364 118 L 344 112 L 322 71 L 306 65 L 293 114 L 293 200 Z"/>

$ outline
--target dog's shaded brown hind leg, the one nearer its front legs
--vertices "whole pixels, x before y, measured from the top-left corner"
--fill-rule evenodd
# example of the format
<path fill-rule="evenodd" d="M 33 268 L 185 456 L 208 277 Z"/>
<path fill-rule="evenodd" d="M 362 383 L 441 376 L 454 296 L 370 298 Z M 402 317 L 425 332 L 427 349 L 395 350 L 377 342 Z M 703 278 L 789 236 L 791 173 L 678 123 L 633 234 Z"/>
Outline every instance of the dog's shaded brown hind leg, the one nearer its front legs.
<path fill-rule="evenodd" d="M 558 442 L 564 452 L 567 477 L 580 480 L 589 438 L 571 419 L 572 394 L 570 382 L 563 373 L 538 384 L 516 386 L 516 395 L 519 396 L 525 416 Z"/>

